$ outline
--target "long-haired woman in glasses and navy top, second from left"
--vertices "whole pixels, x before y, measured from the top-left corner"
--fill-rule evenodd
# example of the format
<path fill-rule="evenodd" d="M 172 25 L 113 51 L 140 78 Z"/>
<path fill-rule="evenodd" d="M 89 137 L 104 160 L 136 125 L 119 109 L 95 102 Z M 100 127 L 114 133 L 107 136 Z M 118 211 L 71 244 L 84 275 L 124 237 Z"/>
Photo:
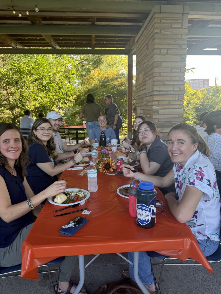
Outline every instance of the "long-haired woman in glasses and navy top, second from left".
<path fill-rule="evenodd" d="M 27 181 L 34 193 L 39 193 L 57 181 L 57 174 L 82 160 L 76 153 L 73 160 L 57 165 L 57 152 L 52 136 L 52 125 L 47 118 L 38 118 L 28 135 L 28 156 L 31 163 L 27 166 Z"/>

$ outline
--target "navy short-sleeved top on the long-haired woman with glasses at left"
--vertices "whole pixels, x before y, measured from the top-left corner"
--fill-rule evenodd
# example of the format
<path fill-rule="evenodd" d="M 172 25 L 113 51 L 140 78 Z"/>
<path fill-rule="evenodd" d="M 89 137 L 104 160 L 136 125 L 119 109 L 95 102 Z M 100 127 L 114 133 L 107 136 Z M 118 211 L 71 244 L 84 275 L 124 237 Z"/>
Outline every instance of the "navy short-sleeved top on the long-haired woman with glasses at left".
<path fill-rule="evenodd" d="M 36 163 L 52 162 L 55 166 L 56 161 L 50 159 L 45 148 L 39 143 L 32 143 L 29 146 L 28 157 L 31 159 L 31 163 L 26 168 L 27 181 L 36 195 L 58 180 L 57 176 L 52 177 L 42 171 Z"/>

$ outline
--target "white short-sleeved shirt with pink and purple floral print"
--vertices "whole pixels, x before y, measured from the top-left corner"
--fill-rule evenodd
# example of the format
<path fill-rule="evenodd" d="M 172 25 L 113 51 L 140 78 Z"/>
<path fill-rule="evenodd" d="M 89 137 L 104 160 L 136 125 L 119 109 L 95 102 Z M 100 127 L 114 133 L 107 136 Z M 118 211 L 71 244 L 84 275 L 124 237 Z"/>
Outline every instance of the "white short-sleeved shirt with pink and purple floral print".
<path fill-rule="evenodd" d="M 220 194 L 214 167 L 208 157 L 198 150 L 184 167 L 174 164 L 176 199 L 181 201 L 186 186 L 203 192 L 192 218 L 186 224 L 197 239 L 220 240 Z M 192 195 L 194 197 L 194 194 Z"/>

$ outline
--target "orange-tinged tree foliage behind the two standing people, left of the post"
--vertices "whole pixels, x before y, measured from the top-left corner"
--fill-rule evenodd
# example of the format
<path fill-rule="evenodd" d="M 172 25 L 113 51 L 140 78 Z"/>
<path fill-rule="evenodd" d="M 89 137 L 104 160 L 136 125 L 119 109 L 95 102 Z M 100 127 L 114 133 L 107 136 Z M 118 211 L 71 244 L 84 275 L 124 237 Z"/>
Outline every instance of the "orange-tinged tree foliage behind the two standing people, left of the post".
<path fill-rule="evenodd" d="M 79 119 L 79 113 L 82 105 L 86 103 L 88 93 L 94 94 L 95 102 L 101 105 L 103 112 L 105 112 L 105 108 L 107 107 L 104 103 L 104 97 L 107 94 L 111 94 L 113 96 L 113 102 L 119 108 L 124 126 L 126 126 L 127 57 L 119 55 L 95 55 L 92 58 L 88 56 L 80 56 L 80 58 L 79 65 L 82 71 L 82 78 L 78 84 L 79 92 L 75 105 L 66 109 L 66 122 L 70 125 L 74 123 L 82 124 L 82 120 Z M 83 68 L 82 65 L 84 65 Z"/>

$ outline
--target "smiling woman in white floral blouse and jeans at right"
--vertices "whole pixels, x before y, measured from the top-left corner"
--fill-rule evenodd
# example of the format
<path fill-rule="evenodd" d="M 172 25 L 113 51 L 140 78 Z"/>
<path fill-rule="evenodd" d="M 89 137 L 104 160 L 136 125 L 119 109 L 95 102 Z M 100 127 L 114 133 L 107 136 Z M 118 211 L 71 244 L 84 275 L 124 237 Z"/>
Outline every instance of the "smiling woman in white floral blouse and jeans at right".
<path fill-rule="evenodd" d="M 209 256 L 219 246 L 221 221 L 220 194 L 214 167 L 208 159 L 209 148 L 193 126 L 178 123 L 168 133 L 168 153 L 175 164 L 164 177 L 132 173 L 127 168 L 123 168 L 123 174 L 162 188 L 175 181 L 176 193 L 165 195 L 169 209 L 179 223 L 190 227 L 202 252 Z M 143 262 L 139 264 L 142 271 Z M 146 266 L 141 281 L 148 286 L 148 290 L 155 291 L 150 265 Z"/>

